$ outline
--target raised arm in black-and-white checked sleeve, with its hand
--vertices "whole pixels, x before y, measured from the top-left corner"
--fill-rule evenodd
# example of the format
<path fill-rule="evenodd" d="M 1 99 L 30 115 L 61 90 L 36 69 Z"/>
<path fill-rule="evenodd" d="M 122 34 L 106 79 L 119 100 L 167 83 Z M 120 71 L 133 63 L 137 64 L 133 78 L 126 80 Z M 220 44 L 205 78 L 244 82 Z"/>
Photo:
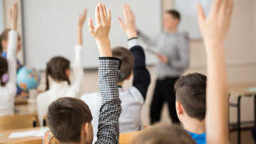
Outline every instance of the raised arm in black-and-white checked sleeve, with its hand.
<path fill-rule="evenodd" d="M 96 7 L 96 26 L 89 19 L 89 30 L 96 43 L 101 57 L 99 58 L 98 75 L 101 92 L 101 111 L 98 122 L 98 140 L 95 143 L 119 143 L 119 116 L 122 112 L 119 99 L 118 83 L 121 77 L 121 59 L 113 58 L 108 37 L 111 26 L 110 10 L 105 5 Z"/>

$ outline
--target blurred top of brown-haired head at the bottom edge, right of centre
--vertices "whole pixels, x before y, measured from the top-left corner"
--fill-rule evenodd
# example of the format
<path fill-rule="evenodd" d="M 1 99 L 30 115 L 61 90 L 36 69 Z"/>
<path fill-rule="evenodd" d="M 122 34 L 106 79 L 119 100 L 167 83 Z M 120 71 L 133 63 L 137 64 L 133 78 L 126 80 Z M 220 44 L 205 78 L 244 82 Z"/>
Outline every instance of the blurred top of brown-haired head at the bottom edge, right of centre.
<path fill-rule="evenodd" d="M 195 144 L 191 136 L 177 125 L 156 124 L 134 137 L 132 144 Z"/>

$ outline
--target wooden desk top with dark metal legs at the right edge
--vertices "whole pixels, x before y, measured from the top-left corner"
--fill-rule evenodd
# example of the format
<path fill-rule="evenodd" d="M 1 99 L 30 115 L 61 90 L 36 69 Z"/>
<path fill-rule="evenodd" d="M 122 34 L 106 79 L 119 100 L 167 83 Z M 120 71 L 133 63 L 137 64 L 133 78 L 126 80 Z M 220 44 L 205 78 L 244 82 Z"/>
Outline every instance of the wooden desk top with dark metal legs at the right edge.
<path fill-rule="evenodd" d="M 256 92 L 247 92 L 250 88 L 256 88 L 256 83 L 232 83 L 228 86 L 231 94 L 256 95 Z"/>

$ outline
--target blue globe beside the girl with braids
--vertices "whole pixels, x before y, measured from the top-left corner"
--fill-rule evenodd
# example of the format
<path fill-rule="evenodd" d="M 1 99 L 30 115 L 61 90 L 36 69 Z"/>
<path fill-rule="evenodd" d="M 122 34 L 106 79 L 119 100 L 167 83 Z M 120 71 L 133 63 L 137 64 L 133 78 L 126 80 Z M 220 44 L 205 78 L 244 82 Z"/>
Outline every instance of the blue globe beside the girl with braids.
<path fill-rule="evenodd" d="M 23 91 L 36 89 L 40 83 L 41 74 L 35 68 L 23 66 L 17 73 L 17 84 Z"/>

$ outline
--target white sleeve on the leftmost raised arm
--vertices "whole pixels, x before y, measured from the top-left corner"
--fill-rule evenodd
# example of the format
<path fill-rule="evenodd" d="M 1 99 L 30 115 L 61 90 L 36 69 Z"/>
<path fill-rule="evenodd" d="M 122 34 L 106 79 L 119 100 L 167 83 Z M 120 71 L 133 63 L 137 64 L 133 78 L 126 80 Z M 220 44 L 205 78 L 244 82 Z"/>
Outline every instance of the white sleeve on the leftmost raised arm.
<path fill-rule="evenodd" d="M 8 60 L 8 77 L 9 81 L 6 85 L 8 89 L 8 93 L 11 95 L 16 95 L 17 93 L 17 59 L 16 59 L 16 51 L 17 51 L 17 31 L 9 31 L 9 44 L 8 44 L 8 52 L 7 52 L 7 60 Z"/>

